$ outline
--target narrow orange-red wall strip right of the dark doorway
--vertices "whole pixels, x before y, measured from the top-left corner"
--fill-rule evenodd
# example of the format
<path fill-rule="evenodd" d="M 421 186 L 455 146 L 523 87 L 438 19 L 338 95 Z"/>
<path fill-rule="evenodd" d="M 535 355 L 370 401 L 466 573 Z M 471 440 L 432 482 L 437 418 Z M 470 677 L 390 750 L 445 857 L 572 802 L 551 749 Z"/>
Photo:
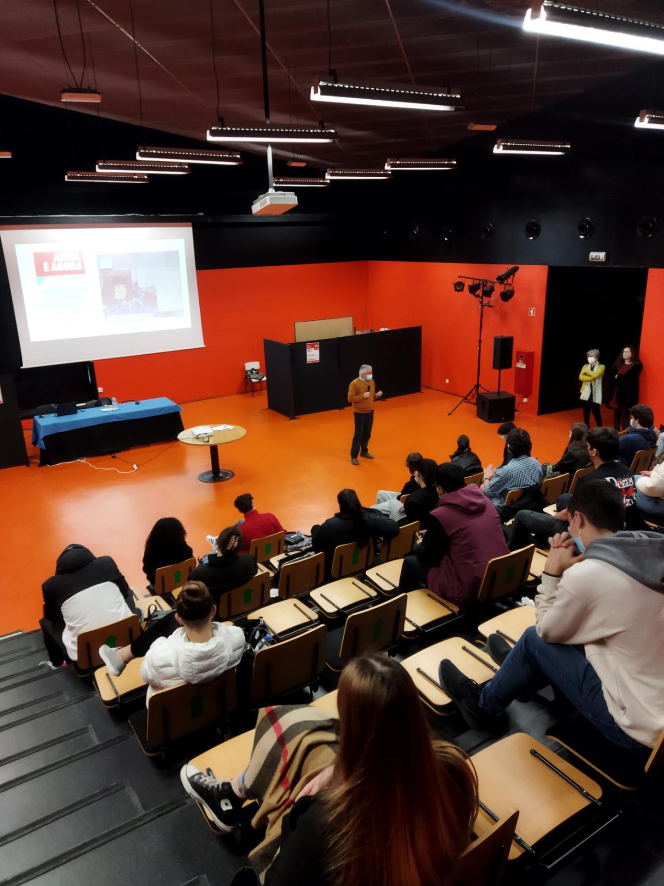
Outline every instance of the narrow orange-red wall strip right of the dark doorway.
<path fill-rule="evenodd" d="M 664 423 L 664 384 L 662 383 L 661 352 L 664 335 L 664 268 L 648 271 L 645 287 L 644 323 L 641 330 L 639 356 L 644 364 L 639 388 L 639 400 L 652 406 L 655 424 Z"/>

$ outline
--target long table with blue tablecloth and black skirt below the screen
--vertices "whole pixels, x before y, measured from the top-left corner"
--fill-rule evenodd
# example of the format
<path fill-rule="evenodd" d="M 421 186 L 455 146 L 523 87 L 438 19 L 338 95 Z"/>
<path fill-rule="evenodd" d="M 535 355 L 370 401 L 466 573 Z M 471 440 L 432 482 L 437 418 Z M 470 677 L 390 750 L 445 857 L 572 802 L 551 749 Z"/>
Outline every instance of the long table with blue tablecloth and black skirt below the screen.
<path fill-rule="evenodd" d="M 109 455 L 135 446 L 177 439 L 183 428 L 181 407 L 167 397 L 131 400 L 117 409 L 79 409 L 72 416 L 35 416 L 33 445 L 41 464 L 73 462 L 91 455 Z"/>

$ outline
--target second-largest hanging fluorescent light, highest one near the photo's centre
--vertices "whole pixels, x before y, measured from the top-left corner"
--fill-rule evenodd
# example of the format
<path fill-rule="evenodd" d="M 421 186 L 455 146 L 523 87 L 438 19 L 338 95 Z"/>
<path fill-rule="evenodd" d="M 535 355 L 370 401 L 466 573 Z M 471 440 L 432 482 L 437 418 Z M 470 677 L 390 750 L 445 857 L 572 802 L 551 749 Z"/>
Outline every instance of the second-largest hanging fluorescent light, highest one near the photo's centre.
<path fill-rule="evenodd" d="M 448 89 L 428 86 L 359 86 L 321 79 L 313 84 L 314 102 L 338 105 L 372 105 L 387 108 L 410 108 L 413 111 L 455 111 L 461 97 Z"/>

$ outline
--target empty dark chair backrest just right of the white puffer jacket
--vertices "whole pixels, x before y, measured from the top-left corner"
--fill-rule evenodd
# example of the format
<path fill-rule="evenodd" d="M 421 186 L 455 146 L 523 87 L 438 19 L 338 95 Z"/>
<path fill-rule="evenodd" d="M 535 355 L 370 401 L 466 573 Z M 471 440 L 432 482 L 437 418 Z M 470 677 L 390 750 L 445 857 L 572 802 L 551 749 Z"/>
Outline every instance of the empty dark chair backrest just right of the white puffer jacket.
<path fill-rule="evenodd" d="M 259 649 L 253 660 L 251 706 L 263 707 L 317 680 L 325 667 L 327 635 L 327 627 L 318 625 L 290 640 Z"/>

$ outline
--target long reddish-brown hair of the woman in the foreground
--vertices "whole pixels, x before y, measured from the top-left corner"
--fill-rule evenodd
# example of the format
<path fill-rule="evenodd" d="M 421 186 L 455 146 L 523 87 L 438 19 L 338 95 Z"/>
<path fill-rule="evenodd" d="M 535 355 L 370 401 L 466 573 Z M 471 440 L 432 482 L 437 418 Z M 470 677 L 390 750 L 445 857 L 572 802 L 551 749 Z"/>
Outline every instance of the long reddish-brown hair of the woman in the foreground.
<path fill-rule="evenodd" d="M 477 775 L 434 742 L 413 680 L 375 653 L 339 680 L 339 752 L 320 795 L 328 872 L 338 886 L 439 886 L 470 841 Z"/>

